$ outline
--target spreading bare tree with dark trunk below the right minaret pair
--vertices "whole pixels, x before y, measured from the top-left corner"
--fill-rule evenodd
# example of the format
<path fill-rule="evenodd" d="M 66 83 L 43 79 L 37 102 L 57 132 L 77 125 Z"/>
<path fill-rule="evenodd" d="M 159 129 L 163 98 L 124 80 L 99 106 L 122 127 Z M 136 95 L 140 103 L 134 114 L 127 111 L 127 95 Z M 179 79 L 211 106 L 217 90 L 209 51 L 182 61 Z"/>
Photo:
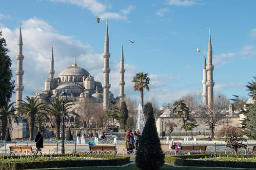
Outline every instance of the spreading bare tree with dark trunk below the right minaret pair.
<path fill-rule="evenodd" d="M 195 116 L 198 117 L 201 124 L 209 126 L 211 138 L 214 138 L 214 127 L 223 124 L 222 119 L 225 117 L 221 109 L 217 106 L 200 106 L 195 110 Z"/>

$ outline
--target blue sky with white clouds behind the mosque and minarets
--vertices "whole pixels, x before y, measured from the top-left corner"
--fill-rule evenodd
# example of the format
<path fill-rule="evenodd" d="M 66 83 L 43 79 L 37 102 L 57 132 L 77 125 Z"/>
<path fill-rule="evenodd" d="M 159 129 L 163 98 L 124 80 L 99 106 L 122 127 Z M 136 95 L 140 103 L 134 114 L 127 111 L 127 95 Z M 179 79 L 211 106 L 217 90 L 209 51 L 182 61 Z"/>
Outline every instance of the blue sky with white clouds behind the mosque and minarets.
<path fill-rule="evenodd" d="M 145 99 L 155 98 L 159 105 L 202 90 L 203 51 L 207 51 L 209 28 L 215 94 L 246 97 L 245 85 L 256 72 L 255 6 L 255 0 L 3 0 L 0 31 L 10 49 L 16 81 L 15 56 L 22 23 L 23 97 L 31 96 L 37 87 L 44 89 L 52 43 L 55 76 L 70 67 L 76 55 L 78 66 L 102 82 L 107 18 L 110 90 L 115 97 L 119 93 L 122 41 L 127 97 L 139 100 L 131 81 L 140 71 L 151 78 Z M 99 24 L 95 17 L 101 18 Z M 201 52 L 196 51 L 197 46 Z"/>

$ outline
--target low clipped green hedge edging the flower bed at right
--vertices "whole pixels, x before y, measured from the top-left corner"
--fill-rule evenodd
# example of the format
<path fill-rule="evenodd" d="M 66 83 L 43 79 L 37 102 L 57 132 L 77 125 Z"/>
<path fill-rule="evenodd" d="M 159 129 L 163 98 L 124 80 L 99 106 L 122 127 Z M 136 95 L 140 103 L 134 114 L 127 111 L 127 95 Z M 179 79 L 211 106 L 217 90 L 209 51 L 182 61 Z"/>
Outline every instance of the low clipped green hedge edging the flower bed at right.
<path fill-rule="evenodd" d="M 238 161 L 210 161 L 210 160 L 191 160 L 204 158 L 211 155 L 224 154 L 196 154 L 196 155 L 177 155 L 165 156 L 165 163 L 177 166 L 192 166 L 192 167 L 223 167 L 223 168 L 255 168 L 256 162 L 238 162 Z M 225 155 L 226 156 L 226 155 Z M 256 155 L 238 155 L 238 157 L 251 158 Z M 235 157 L 234 154 L 229 154 L 229 157 Z"/>

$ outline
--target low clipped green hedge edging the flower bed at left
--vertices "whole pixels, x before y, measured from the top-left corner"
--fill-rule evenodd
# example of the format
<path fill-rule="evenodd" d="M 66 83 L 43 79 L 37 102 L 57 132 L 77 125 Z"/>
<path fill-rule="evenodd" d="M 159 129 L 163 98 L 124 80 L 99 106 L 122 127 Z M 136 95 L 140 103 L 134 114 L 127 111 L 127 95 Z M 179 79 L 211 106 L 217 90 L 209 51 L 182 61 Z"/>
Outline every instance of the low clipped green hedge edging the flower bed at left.
<path fill-rule="evenodd" d="M 43 168 L 65 168 L 65 167 L 95 167 L 95 166 L 119 166 L 130 162 L 129 156 L 118 155 L 98 155 L 98 154 L 55 154 L 55 155 L 31 155 L 34 157 L 44 156 L 84 156 L 103 158 L 100 160 L 51 160 L 51 161 L 31 161 L 31 162 L 0 162 L 0 170 L 26 170 Z M 26 156 L 3 156 L 8 158 L 26 158 Z"/>

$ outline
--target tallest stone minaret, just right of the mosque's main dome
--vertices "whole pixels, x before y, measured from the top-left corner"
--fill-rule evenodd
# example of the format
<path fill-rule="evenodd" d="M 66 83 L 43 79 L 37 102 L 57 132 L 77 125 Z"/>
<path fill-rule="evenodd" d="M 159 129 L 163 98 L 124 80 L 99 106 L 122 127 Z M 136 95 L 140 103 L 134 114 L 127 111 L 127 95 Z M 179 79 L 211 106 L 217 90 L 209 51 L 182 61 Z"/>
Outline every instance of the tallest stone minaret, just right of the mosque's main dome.
<path fill-rule="evenodd" d="M 107 110 L 108 109 L 108 102 L 109 102 L 109 73 L 110 73 L 110 68 L 109 68 L 109 40 L 108 40 L 108 20 L 107 20 L 107 25 L 106 25 L 106 35 L 105 35 L 105 43 L 104 43 L 104 53 L 103 53 L 103 58 L 104 58 L 104 68 L 102 69 L 103 71 L 103 109 Z"/>

